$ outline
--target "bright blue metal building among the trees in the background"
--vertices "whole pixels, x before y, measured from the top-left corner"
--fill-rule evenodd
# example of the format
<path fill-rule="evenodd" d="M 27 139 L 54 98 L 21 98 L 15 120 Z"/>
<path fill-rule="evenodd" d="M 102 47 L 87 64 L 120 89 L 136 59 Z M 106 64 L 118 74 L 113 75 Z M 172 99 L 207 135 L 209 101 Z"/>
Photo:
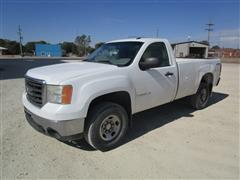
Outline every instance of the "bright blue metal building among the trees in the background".
<path fill-rule="evenodd" d="M 60 44 L 36 44 L 35 55 L 45 57 L 61 57 L 62 49 Z"/>

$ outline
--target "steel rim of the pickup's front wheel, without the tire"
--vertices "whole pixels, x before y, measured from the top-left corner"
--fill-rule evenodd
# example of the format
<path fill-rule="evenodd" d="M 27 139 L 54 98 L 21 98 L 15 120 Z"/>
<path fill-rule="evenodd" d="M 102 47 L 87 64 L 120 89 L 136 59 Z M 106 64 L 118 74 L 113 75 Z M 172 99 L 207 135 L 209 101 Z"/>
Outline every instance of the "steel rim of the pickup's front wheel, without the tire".
<path fill-rule="evenodd" d="M 121 120 L 116 115 L 107 116 L 100 126 L 100 137 L 104 141 L 111 141 L 119 134 L 121 129 Z"/>

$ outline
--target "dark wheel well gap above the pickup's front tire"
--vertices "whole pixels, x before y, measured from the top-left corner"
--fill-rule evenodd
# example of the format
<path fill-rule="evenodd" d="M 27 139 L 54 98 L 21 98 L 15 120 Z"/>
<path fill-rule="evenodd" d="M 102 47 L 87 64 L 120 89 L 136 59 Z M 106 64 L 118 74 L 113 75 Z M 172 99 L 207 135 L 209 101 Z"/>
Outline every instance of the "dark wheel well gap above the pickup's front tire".
<path fill-rule="evenodd" d="M 129 120 L 131 119 L 132 108 L 131 108 L 131 99 L 130 99 L 130 95 L 128 92 L 118 91 L 118 92 L 108 93 L 108 94 L 99 96 L 99 97 L 95 98 L 94 100 L 92 100 L 92 102 L 89 105 L 88 112 L 94 105 L 96 105 L 99 102 L 104 102 L 104 101 L 121 105 L 127 111 Z"/>

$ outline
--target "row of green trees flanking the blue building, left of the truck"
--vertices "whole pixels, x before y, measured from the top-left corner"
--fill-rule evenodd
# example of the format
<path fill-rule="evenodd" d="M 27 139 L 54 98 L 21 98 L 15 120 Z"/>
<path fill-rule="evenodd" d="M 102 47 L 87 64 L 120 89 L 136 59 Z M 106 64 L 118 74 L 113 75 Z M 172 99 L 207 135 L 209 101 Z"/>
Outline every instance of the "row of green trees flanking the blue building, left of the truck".
<path fill-rule="evenodd" d="M 81 35 L 77 36 L 74 40 L 74 42 L 62 42 L 59 43 L 62 48 L 62 53 L 64 56 L 85 56 L 91 52 L 93 52 L 95 49 L 100 47 L 103 42 L 98 42 L 95 44 L 94 47 L 90 46 L 91 43 L 91 36 L 90 35 Z M 49 44 L 46 41 L 31 41 L 27 42 L 25 45 L 23 45 L 23 52 L 24 55 L 34 55 L 35 54 L 35 44 Z M 6 51 L 3 52 L 3 54 L 9 54 L 9 55 L 18 55 L 20 54 L 20 44 L 17 41 L 11 41 L 8 39 L 0 39 L 0 46 L 7 48 Z"/>

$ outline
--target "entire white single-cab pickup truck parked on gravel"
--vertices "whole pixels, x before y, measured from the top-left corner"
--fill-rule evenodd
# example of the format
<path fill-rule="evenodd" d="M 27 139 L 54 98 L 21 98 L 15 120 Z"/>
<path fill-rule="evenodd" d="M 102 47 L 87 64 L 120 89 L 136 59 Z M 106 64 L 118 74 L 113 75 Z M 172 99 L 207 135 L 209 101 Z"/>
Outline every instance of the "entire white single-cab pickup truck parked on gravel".
<path fill-rule="evenodd" d="M 219 59 L 176 59 L 165 39 L 123 39 L 82 62 L 30 69 L 22 101 L 36 130 L 62 141 L 84 137 L 105 151 L 137 112 L 187 96 L 193 108 L 206 107 L 220 73 Z"/>

